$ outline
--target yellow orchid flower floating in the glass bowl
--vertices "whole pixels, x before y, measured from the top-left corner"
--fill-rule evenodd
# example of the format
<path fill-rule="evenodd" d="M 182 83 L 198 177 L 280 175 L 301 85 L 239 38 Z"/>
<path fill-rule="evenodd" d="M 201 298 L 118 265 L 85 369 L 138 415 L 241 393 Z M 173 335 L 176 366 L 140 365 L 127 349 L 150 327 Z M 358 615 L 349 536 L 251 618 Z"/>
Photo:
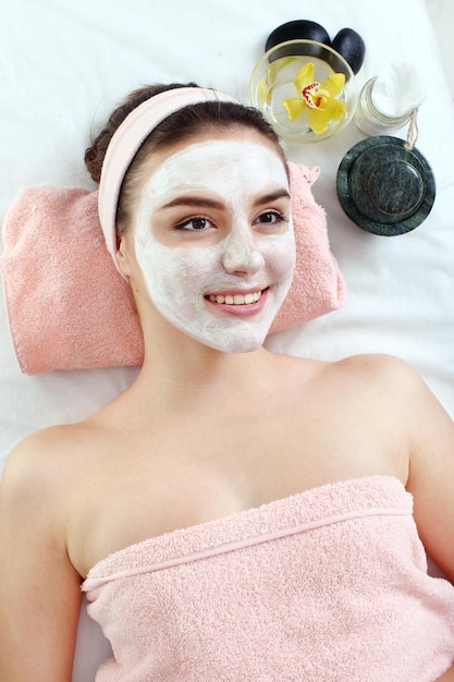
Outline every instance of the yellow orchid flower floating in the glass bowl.
<path fill-rule="evenodd" d="M 332 73 L 321 83 L 314 81 L 314 63 L 308 62 L 298 71 L 295 87 L 299 97 L 289 97 L 282 101 L 289 120 L 296 121 L 304 112 L 317 135 L 326 132 L 330 121 L 339 121 L 345 113 L 345 101 L 336 99 L 344 88 L 343 73 Z"/>

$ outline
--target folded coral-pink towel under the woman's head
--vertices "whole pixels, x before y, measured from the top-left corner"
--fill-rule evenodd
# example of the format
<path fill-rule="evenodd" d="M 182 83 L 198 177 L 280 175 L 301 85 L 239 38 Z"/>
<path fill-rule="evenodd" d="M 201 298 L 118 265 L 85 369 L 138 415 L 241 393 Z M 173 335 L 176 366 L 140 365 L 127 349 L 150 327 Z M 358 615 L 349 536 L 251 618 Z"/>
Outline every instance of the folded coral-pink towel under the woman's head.
<path fill-rule="evenodd" d="M 310 191 L 318 172 L 291 165 L 297 261 L 271 331 L 335 310 L 345 300 L 326 215 Z M 24 373 L 142 364 L 140 326 L 106 248 L 96 193 L 24 188 L 4 219 L 3 242 L 7 313 Z"/>

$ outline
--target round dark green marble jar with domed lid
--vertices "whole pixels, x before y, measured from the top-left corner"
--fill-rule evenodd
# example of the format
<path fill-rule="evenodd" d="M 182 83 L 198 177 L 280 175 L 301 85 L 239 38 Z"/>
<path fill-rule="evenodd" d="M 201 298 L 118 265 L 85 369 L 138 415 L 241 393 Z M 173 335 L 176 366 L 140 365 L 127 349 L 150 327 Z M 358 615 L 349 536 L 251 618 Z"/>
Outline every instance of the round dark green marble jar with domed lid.
<path fill-rule="evenodd" d="M 339 167 L 336 190 L 343 210 L 373 234 L 405 234 L 433 206 L 432 169 L 420 151 L 405 145 L 398 137 L 369 137 L 354 145 Z"/>

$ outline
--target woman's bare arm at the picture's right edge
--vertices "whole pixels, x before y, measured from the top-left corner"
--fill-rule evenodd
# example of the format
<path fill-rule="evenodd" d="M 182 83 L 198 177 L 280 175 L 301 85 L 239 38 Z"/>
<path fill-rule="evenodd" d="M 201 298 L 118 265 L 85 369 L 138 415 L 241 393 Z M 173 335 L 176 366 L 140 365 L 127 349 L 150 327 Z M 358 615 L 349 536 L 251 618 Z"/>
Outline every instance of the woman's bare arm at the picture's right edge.
<path fill-rule="evenodd" d="M 393 414 L 391 423 L 383 423 L 406 444 L 406 488 L 414 496 L 419 536 L 454 583 L 454 423 L 412 367 L 390 356 L 382 357 L 380 366 L 380 378 L 375 380 L 383 380 L 381 403 Z M 380 404 L 377 418 L 379 410 Z M 452 663 L 434 682 L 454 682 Z"/>

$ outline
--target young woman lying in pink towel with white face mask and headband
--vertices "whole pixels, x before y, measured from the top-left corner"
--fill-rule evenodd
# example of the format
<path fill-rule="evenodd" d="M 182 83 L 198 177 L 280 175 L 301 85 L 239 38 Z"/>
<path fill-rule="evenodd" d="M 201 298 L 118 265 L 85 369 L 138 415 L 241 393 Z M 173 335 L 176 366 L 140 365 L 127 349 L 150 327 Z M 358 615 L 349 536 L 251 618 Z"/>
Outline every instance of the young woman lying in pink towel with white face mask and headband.
<path fill-rule="evenodd" d="M 397 360 L 262 348 L 295 261 L 273 131 L 144 88 L 86 161 L 145 361 L 9 459 L 1 680 L 71 680 L 82 590 L 101 682 L 454 680 L 454 587 L 425 553 L 454 581 L 454 426 Z"/>

